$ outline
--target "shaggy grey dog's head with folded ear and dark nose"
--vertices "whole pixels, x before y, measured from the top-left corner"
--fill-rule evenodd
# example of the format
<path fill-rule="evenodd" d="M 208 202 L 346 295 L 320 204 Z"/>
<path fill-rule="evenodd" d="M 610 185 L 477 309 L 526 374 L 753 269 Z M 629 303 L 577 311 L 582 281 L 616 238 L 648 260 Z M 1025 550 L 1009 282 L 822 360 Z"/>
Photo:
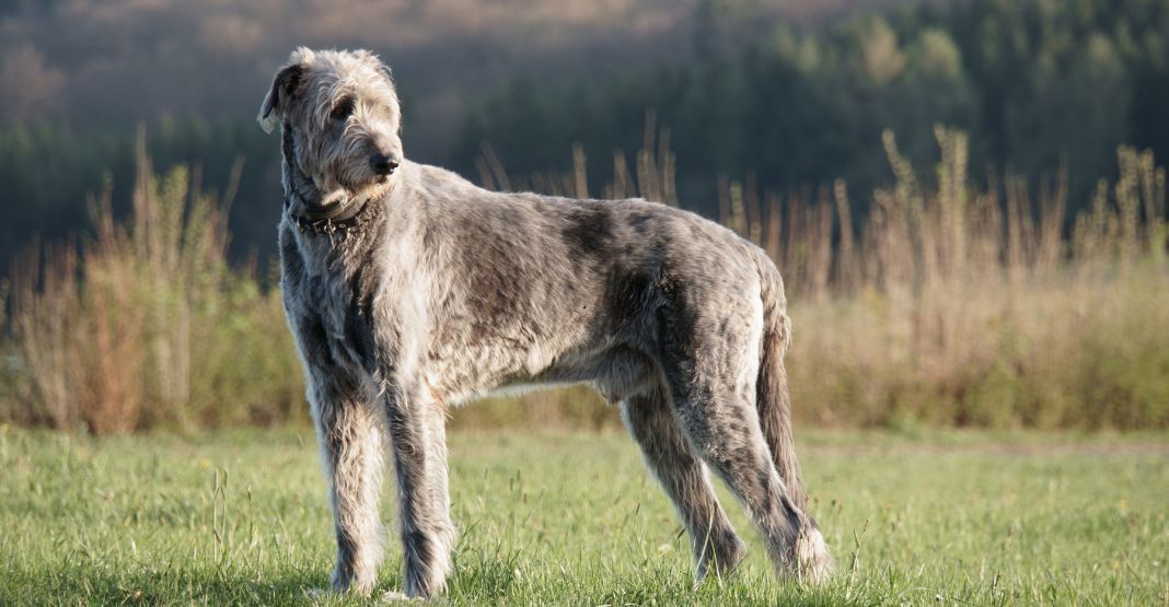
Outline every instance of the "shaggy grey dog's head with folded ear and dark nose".
<path fill-rule="evenodd" d="M 285 162 L 319 191 L 310 202 L 330 205 L 395 179 L 401 118 L 389 68 L 372 53 L 302 47 L 272 78 L 258 120 L 269 133 L 283 125 Z"/>

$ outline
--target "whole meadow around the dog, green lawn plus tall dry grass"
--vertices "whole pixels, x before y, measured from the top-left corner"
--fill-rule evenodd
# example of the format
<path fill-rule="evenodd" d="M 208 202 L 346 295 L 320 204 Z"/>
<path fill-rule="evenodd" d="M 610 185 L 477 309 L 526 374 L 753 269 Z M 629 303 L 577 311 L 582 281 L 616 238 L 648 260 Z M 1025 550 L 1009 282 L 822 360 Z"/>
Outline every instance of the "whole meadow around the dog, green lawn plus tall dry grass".
<path fill-rule="evenodd" d="M 615 409 L 572 388 L 455 414 L 443 601 L 1169 603 L 1165 172 L 1121 148 L 1073 217 L 1066 176 L 980 188 L 966 135 L 936 139 L 929 174 L 885 134 L 895 183 L 859 218 L 843 182 L 720 187 L 719 221 L 787 282 L 831 582 L 775 581 L 722 491 L 756 547 L 691 588 Z M 480 181 L 679 203 L 652 121 L 602 191 L 586 161 L 516 176 L 489 153 Z M 91 237 L 29 251 L 0 285 L 0 605 L 307 603 L 332 531 L 275 273 L 229 261 L 231 183 L 216 200 L 198 167 L 155 173 L 141 133 L 137 165 L 125 219 L 106 187 Z M 396 545 L 379 592 L 400 586 Z"/>

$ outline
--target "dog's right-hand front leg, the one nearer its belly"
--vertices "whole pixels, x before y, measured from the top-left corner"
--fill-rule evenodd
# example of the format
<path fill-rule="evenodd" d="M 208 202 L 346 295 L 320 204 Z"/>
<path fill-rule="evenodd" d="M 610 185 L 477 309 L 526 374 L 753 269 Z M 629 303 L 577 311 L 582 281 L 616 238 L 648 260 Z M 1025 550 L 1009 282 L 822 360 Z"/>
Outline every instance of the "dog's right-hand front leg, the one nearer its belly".
<path fill-rule="evenodd" d="M 455 542 L 447 481 L 447 417 L 421 384 L 404 382 L 385 395 L 406 550 L 406 593 L 429 598 L 447 584 Z"/>

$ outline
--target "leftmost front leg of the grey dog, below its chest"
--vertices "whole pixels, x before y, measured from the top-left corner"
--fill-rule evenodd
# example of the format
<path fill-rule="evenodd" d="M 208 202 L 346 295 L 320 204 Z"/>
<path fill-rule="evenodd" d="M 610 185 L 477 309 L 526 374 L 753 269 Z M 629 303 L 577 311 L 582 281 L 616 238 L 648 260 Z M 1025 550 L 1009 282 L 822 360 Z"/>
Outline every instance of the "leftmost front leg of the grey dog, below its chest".
<path fill-rule="evenodd" d="M 385 453 L 380 412 L 362 381 L 333 369 L 310 374 L 317 440 L 320 445 L 337 532 L 337 592 L 368 592 L 382 556 L 378 503 Z"/>

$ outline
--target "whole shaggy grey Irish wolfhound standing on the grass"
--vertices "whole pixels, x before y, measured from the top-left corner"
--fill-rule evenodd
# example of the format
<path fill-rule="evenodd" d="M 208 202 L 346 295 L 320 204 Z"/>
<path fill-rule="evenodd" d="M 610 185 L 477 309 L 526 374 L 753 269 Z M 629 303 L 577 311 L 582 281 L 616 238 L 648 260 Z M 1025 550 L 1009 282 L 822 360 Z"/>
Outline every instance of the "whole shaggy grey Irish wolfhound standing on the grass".
<path fill-rule="evenodd" d="M 662 204 L 486 191 L 406 160 L 369 53 L 297 49 L 260 121 L 283 133 L 284 307 L 328 479 L 333 589 L 374 585 L 385 448 L 404 589 L 430 596 L 455 540 L 447 407 L 580 382 L 621 403 L 690 533 L 696 582 L 745 552 L 707 467 L 781 573 L 829 574 L 791 439 L 783 282 L 761 250 Z"/>

